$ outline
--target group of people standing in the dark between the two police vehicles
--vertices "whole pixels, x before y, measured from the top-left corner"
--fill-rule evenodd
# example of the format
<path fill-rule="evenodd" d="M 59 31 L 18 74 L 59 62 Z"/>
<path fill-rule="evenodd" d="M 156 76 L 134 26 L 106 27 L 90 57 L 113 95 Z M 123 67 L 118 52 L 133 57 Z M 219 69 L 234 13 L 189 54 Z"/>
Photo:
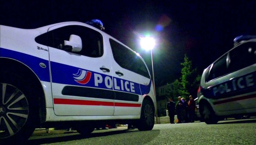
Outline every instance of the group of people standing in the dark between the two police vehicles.
<path fill-rule="evenodd" d="M 196 103 L 193 97 L 189 96 L 189 101 L 186 103 L 184 98 L 178 97 L 178 103 L 175 105 L 172 98 L 168 99 L 167 109 L 170 117 L 170 123 L 174 123 L 175 111 L 177 113 L 178 122 L 186 123 L 194 122 Z"/>

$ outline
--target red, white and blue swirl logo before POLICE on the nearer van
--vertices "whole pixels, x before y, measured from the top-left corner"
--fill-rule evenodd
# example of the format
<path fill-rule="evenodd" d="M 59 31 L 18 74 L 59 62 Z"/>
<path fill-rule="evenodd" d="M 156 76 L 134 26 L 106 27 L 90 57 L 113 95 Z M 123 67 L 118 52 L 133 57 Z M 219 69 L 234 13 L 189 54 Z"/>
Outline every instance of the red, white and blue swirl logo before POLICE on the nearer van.
<path fill-rule="evenodd" d="M 86 70 L 79 69 L 78 73 L 73 74 L 73 75 L 74 75 L 74 79 L 75 79 L 74 81 L 84 85 L 90 81 L 92 73 L 89 71 L 86 71 Z"/>

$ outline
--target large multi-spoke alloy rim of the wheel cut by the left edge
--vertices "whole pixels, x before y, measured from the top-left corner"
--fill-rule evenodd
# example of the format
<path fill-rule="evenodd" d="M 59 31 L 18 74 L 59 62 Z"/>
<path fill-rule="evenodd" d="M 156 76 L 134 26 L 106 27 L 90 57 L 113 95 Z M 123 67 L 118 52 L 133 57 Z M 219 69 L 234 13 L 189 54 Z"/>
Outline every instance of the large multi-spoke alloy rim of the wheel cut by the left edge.
<path fill-rule="evenodd" d="M 15 135 L 27 122 L 29 103 L 16 87 L 0 84 L 0 139 Z"/>

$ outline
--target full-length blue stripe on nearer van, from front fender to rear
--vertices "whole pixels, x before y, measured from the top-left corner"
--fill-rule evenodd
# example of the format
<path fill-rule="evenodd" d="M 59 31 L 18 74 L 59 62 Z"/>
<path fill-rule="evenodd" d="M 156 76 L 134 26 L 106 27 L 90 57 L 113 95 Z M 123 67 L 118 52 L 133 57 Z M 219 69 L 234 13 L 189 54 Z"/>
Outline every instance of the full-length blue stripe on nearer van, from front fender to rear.
<path fill-rule="evenodd" d="M 29 54 L 16 52 L 13 50 L 8 50 L 5 48 L 0 48 L 0 57 L 11 58 L 11 59 L 17 60 L 19 62 L 22 62 L 23 64 L 28 66 L 37 75 L 37 77 L 39 77 L 40 81 L 50 82 L 50 73 L 49 73 L 50 70 L 49 70 L 49 61 L 48 60 L 38 58 L 38 57 L 29 55 Z M 46 68 L 42 68 L 39 65 L 40 63 L 44 63 L 46 65 Z M 84 87 L 94 87 L 94 88 L 108 89 L 108 90 L 114 89 L 115 91 L 134 93 L 137 95 L 148 94 L 150 92 L 150 87 L 151 87 L 151 83 L 152 83 L 152 81 L 150 80 L 149 85 L 142 85 L 142 84 L 138 84 L 135 82 L 131 82 L 131 81 L 127 81 L 124 79 L 119 79 L 119 78 L 114 77 L 114 79 L 116 79 L 116 82 L 117 82 L 116 86 L 115 86 L 115 84 L 112 84 L 112 87 L 108 88 L 104 84 L 104 79 L 110 78 L 112 80 L 113 78 L 111 76 L 96 73 L 96 72 L 93 72 L 90 70 L 86 70 L 86 71 L 91 72 L 92 74 L 91 74 L 91 78 L 88 81 L 88 83 L 83 85 L 83 84 L 77 83 L 74 79 L 74 77 L 76 77 L 76 76 L 73 75 L 73 74 L 76 74 L 80 68 L 77 68 L 74 66 L 69 66 L 66 64 L 57 63 L 57 62 L 51 62 L 51 68 L 54 68 L 51 70 L 51 77 L 52 77 L 53 83 L 84 86 Z M 98 86 L 95 86 L 94 75 L 102 76 L 103 82 L 98 83 Z M 121 83 L 121 82 L 123 82 L 123 83 Z M 126 89 L 124 87 L 125 82 L 128 82 Z M 123 84 L 123 87 L 121 87 L 122 84 Z M 119 87 L 119 89 L 118 89 L 118 87 Z"/>

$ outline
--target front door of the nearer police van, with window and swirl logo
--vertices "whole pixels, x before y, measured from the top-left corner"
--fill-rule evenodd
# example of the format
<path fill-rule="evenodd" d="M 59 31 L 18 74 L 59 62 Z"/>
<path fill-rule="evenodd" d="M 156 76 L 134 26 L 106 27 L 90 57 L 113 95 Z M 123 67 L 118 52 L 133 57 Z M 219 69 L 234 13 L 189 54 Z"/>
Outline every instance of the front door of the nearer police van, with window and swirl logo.
<path fill-rule="evenodd" d="M 63 46 L 70 35 L 82 39 L 80 52 Z M 102 34 L 85 26 L 58 25 L 49 28 L 48 40 L 55 114 L 113 115 L 112 67 Z"/>

